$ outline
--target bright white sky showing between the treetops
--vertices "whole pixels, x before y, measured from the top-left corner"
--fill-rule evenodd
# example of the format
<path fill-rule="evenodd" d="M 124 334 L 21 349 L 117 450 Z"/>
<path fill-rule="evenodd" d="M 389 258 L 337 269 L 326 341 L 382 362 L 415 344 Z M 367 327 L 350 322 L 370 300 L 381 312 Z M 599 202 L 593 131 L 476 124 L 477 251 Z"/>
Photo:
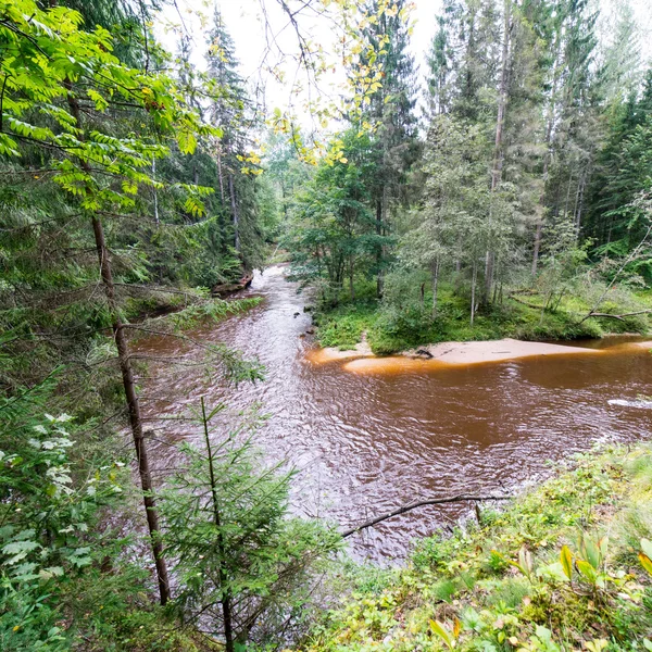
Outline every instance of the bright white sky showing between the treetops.
<path fill-rule="evenodd" d="M 440 10 L 441 0 L 413 0 L 413 2 L 412 15 L 415 26 L 411 48 L 423 74 L 426 68 L 425 53 L 435 34 L 435 16 Z M 622 0 L 594 0 L 594 2 L 601 7 L 603 16 L 601 28 L 609 38 L 613 25 L 610 16 Z M 198 14 L 212 15 L 214 4 L 215 0 L 176 0 L 176 7 L 167 5 L 159 15 L 155 25 L 156 36 L 168 50 L 174 51 L 177 37 L 170 27 L 171 25 L 179 27 L 183 24 L 181 28 L 191 36 L 196 48 L 193 64 L 200 68 L 204 67 L 202 52 L 206 48 L 205 30 L 202 18 Z M 630 0 L 630 4 L 641 28 L 640 42 L 643 57 L 651 60 L 652 0 Z M 242 76 L 251 88 L 260 88 L 265 80 L 265 100 L 268 110 L 276 106 L 285 109 L 291 100 L 287 84 L 275 83 L 269 75 L 261 75 L 260 72 L 262 62 L 273 66 L 278 64 L 285 54 L 285 63 L 281 63 L 281 67 L 286 70 L 287 79 L 293 78 L 294 75 L 296 65 L 290 61 L 289 55 L 298 51 L 297 37 L 291 26 L 288 26 L 279 2 L 277 0 L 217 0 L 217 5 L 235 41 Z M 267 12 L 266 20 L 262 16 L 262 7 L 265 7 Z M 302 29 L 316 42 L 322 43 L 326 51 L 333 51 L 337 30 L 331 25 L 324 24 L 324 21 L 314 21 L 310 16 L 305 16 L 302 21 Z M 267 32 L 265 24 L 271 26 Z M 330 75 L 331 90 L 327 92 L 337 93 L 337 86 L 342 82 L 341 76 L 341 67 L 336 66 L 336 72 Z M 325 87 L 323 90 L 326 92 Z"/>

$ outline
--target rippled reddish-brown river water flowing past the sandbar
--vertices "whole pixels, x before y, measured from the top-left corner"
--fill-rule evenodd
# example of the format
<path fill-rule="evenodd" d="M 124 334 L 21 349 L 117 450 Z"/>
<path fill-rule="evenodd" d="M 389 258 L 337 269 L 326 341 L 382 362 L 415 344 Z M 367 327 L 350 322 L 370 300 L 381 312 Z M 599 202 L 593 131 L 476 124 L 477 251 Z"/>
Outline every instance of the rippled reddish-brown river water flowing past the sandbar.
<path fill-rule="evenodd" d="M 635 339 L 580 342 L 599 355 L 562 354 L 476 365 L 355 373 L 346 363 L 311 362 L 308 297 L 283 267 L 256 273 L 241 296 L 262 296 L 252 311 L 190 334 L 258 356 L 266 379 L 226 387 L 200 366 L 151 363 L 142 381 L 143 410 L 154 429 L 158 472 L 178 462 L 174 446 L 197 441 L 197 427 L 170 417 L 226 401 L 225 431 L 253 403 L 268 418 L 256 436 L 268 460 L 299 469 L 292 509 L 342 528 L 419 498 L 502 494 L 544 478 L 549 461 L 567 459 L 598 441 L 649 438 L 651 411 L 637 403 L 652 393 L 652 355 Z M 296 313 L 299 313 L 296 316 Z M 574 342 L 578 346 L 578 342 Z M 138 344 L 154 356 L 192 353 L 152 337 Z M 614 403 L 616 401 L 616 403 Z M 166 421 L 167 419 L 167 421 Z M 468 514 L 467 504 L 428 506 L 387 521 L 348 541 L 356 559 L 399 563 L 414 537 Z"/>

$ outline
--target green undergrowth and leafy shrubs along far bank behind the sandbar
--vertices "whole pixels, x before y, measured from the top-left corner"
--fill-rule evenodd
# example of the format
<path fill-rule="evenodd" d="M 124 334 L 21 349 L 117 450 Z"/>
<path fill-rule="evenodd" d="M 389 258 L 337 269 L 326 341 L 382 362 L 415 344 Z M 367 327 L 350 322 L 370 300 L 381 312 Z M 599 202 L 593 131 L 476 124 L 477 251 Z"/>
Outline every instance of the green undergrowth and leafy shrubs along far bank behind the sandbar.
<path fill-rule="evenodd" d="M 505 301 L 486 308 L 469 325 L 467 297 L 456 292 L 454 286 L 442 283 L 439 288 L 438 313 L 434 318 L 428 306 L 431 293 L 424 288 L 421 298 L 421 277 L 403 275 L 405 283 L 394 287 L 394 273 L 386 278 L 386 298 L 376 301 L 361 299 L 355 302 L 326 310 L 315 315 L 317 337 L 325 347 L 352 349 L 366 334 L 374 353 L 389 355 L 419 346 L 443 341 L 491 340 L 514 337 L 523 340 L 574 340 L 600 338 L 605 333 L 649 331 L 647 315 L 636 315 L 624 319 L 590 318 L 582 321 L 594 301 L 605 289 L 601 280 L 584 277 L 574 278 L 566 290 L 560 290 L 561 300 L 556 310 L 546 310 L 541 297 L 546 294 L 514 293 L 523 298 L 528 306 L 516 301 Z M 363 286 L 356 286 L 361 291 Z M 556 290 L 555 290 L 556 292 Z M 556 296 L 556 293 L 555 293 Z M 622 314 L 645 310 L 648 300 L 637 299 L 626 288 L 613 288 L 603 300 L 604 312 Z M 538 305 L 536 302 L 540 302 Z"/>

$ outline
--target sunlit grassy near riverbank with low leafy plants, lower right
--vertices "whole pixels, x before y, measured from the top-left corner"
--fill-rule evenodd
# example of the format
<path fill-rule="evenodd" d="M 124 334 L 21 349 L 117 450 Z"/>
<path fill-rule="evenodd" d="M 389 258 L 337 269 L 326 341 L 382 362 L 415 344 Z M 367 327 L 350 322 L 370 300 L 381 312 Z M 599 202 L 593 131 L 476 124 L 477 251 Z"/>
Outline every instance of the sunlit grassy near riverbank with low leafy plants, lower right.
<path fill-rule="evenodd" d="M 477 514 L 418 542 L 408 568 L 359 576 L 298 649 L 651 648 L 648 443 L 574 456 L 505 511 Z"/>

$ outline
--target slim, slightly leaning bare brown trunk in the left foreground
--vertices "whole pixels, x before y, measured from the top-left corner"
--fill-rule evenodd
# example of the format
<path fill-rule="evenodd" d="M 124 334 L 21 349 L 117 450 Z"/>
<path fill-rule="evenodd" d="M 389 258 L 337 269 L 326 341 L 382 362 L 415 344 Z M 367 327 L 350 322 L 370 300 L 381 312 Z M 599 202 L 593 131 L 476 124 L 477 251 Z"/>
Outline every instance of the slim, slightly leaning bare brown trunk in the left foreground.
<path fill-rule="evenodd" d="M 72 84 L 65 84 L 67 89 L 67 101 L 71 108 L 71 113 L 75 117 L 77 127 L 82 128 L 82 118 L 79 115 L 79 104 L 72 92 Z M 79 136 L 80 137 L 80 136 Z M 79 164 L 86 174 L 91 174 L 90 165 L 87 161 L 80 160 Z M 163 544 L 159 536 L 159 512 L 153 497 L 152 477 L 149 467 L 147 455 L 147 447 L 142 431 L 142 418 L 140 415 L 140 404 L 136 394 L 136 386 L 131 372 L 131 359 L 129 347 L 125 337 L 124 326 L 120 316 L 117 301 L 115 299 L 115 286 L 113 284 L 113 271 L 111 268 L 111 256 L 104 238 L 104 228 L 101 220 L 97 215 L 91 215 L 92 231 L 95 235 L 96 249 L 100 265 L 100 276 L 104 287 L 104 296 L 109 304 L 111 313 L 113 338 L 117 348 L 117 361 L 123 379 L 125 390 L 125 399 L 129 411 L 129 424 L 131 426 L 131 435 L 134 446 L 136 448 L 136 460 L 138 462 L 138 473 L 140 475 L 140 486 L 142 488 L 145 510 L 147 515 L 147 525 L 149 529 L 152 552 L 154 554 L 154 564 L 156 566 L 156 578 L 159 580 L 159 594 L 161 604 L 165 605 L 170 600 L 170 580 L 167 577 L 167 565 L 163 554 Z"/>

